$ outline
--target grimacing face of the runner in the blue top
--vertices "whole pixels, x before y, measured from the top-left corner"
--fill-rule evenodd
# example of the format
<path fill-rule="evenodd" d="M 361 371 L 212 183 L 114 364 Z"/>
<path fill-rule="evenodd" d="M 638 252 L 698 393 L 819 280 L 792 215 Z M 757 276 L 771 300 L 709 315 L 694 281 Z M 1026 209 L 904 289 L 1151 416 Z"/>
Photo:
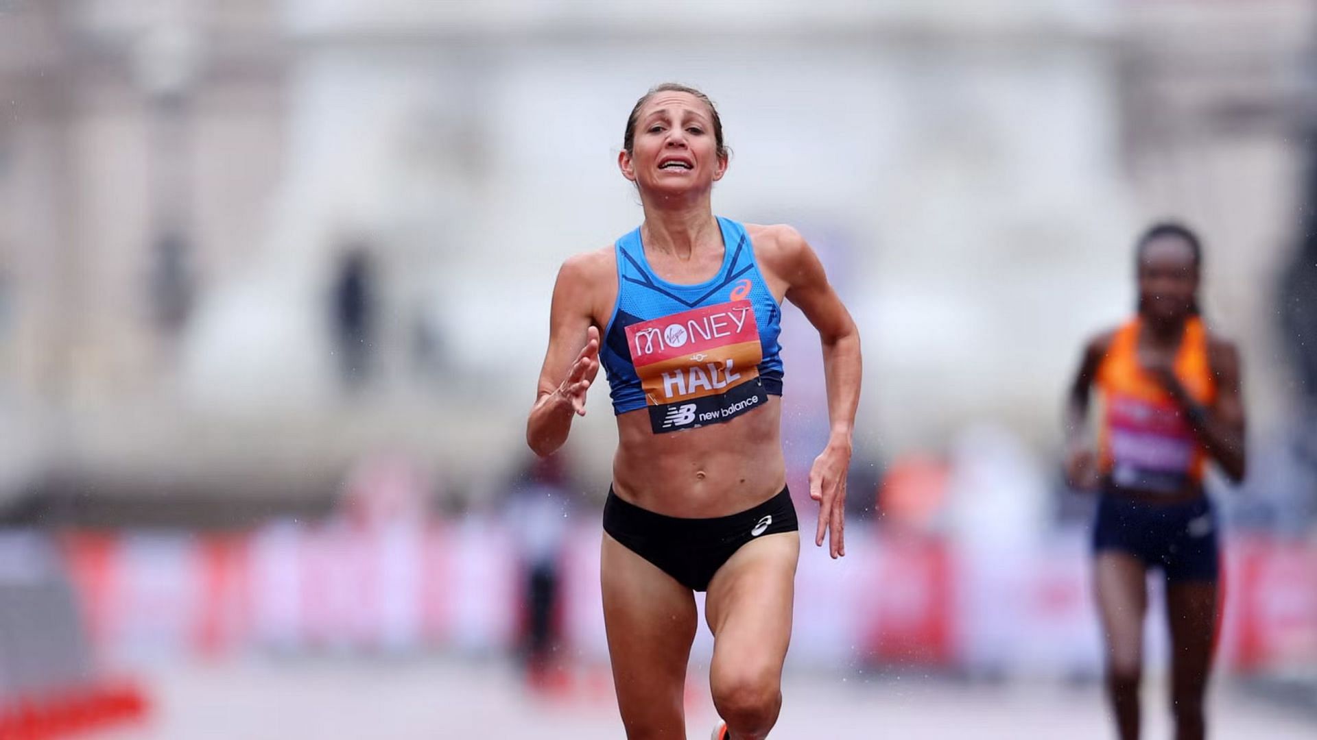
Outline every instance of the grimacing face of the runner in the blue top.
<path fill-rule="evenodd" d="M 645 103 L 632 151 L 623 151 L 619 165 L 641 194 L 655 195 L 707 190 L 727 170 L 709 105 L 689 92 L 660 92 Z"/>

